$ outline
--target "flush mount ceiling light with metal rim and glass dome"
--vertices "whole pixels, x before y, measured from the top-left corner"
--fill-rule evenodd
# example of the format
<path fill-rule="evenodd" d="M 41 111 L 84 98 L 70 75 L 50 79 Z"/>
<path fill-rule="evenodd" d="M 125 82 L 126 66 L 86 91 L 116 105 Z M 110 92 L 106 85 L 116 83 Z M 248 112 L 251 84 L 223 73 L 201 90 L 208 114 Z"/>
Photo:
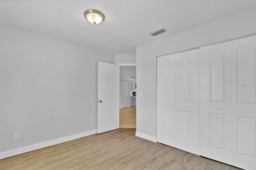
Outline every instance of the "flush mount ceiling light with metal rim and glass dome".
<path fill-rule="evenodd" d="M 105 19 L 104 14 L 98 10 L 87 10 L 84 12 L 84 16 L 94 25 L 101 23 Z"/>

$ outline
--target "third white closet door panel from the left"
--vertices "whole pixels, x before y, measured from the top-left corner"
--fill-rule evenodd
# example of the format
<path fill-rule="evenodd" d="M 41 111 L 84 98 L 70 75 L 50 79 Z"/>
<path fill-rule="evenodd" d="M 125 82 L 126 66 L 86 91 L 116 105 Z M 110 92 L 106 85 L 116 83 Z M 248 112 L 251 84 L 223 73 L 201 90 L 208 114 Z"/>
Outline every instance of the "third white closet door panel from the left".
<path fill-rule="evenodd" d="M 200 48 L 200 155 L 232 164 L 231 42 Z"/>

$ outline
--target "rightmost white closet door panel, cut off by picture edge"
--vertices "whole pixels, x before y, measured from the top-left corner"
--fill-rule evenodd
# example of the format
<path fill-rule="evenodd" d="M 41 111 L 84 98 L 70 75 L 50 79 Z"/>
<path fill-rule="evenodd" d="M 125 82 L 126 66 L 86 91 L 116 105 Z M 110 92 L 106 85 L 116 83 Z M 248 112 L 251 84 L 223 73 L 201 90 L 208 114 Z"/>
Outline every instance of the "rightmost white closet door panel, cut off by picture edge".
<path fill-rule="evenodd" d="M 234 166 L 256 169 L 256 36 L 232 41 Z"/>

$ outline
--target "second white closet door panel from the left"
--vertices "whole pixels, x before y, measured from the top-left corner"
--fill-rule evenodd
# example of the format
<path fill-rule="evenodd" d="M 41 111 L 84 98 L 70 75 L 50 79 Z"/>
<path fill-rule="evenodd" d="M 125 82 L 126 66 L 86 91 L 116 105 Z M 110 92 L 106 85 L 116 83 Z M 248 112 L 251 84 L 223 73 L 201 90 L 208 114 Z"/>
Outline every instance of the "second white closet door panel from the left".
<path fill-rule="evenodd" d="M 199 155 L 199 49 L 176 54 L 176 147 Z"/>

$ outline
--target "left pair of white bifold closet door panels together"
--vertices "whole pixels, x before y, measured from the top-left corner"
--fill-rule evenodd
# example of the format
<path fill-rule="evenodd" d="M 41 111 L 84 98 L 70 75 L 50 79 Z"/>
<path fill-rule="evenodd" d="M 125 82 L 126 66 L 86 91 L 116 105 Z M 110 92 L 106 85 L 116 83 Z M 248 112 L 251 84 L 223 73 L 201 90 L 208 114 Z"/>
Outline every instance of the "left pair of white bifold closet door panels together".
<path fill-rule="evenodd" d="M 199 49 L 158 57 L 157 140 L 199 155 Z"/>

